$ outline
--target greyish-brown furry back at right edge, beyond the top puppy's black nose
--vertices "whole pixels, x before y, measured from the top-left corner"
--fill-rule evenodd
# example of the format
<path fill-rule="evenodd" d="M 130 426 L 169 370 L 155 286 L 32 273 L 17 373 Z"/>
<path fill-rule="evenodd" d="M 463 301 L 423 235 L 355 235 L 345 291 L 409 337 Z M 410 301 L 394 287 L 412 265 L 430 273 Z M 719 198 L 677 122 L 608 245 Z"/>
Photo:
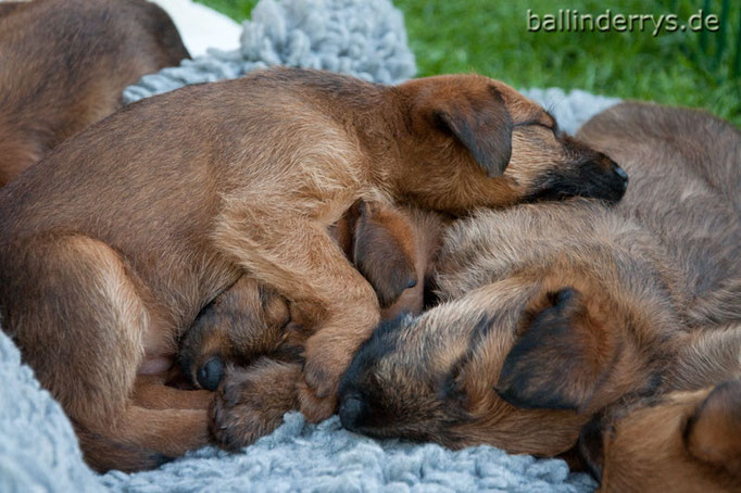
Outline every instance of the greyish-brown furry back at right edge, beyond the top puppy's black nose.
<path fill-rule="evenodd" d="M 740 317 L 741 134 L 704 112 L 625 102 L 578 137 L 630 175 L 617 211 L 648 228 L 686 273 L 696 321 Z"/>

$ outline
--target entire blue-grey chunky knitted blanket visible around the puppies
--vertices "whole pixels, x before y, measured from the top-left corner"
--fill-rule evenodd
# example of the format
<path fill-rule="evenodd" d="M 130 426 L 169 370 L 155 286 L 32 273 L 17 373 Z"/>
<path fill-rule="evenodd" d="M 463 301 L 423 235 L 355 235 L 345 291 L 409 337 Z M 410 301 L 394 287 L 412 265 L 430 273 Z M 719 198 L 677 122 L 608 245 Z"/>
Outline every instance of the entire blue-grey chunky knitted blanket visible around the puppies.
<path fill-rule="evenodd" d="M 325 68 L 386 84 L 415 73 L 399 11 L 388 0 L 262 0 L 244 23 L 241 49 L 212 50 L 143 77 L 126 101 L 187 84 L 234 78 L 268 65 Z M 617 102 L 582 91 L 524 91 L 574 132 Z M 595 484 L 556 459 L 489 446 L 452 452 L 435 444 L 377 441 L 344 431 L 337 417 L 309 425 L 298 413 L 239 454 L 206 447 L 147 472 L 92 472 L 60 405 L 0 332 L 0 492 L 582 492 Z"/>

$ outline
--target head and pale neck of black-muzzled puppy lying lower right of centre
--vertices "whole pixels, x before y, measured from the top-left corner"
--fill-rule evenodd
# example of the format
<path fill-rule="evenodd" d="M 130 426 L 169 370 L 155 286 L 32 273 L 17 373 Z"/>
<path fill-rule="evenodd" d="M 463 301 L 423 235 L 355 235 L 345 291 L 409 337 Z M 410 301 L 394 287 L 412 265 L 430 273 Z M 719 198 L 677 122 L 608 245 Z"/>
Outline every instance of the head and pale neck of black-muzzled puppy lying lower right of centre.
<path fill-rule="evenodd" d="M 361 347 L 340 387 L 342 424 L 556 455 L 593 412 L 651 391 L 666 334 L 679 330 L 666 280 L 636 238 L 626 239 L 636 243 L 630 255 L 601 238 L 627 229 L 601 231 L 567 205 L 487 212 L 451 227 L 437 276 L 443 303 L 381 325 Z M 515 229 L 518 240 L 507 241 Z"/>

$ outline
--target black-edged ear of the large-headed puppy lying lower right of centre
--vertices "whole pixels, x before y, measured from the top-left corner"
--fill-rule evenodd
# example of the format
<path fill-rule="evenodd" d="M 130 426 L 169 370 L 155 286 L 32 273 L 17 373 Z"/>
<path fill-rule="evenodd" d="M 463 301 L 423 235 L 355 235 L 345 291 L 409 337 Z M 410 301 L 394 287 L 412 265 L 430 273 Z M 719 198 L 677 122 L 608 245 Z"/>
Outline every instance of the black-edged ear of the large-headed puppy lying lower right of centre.
<path fill-rule="evenodd" d="M 599 331 L 573 288 L 548 294 L 549 304 L 507 354 L 495 390 L 510 404 L 533 409 L 583 410 L 603 369 Z"/>

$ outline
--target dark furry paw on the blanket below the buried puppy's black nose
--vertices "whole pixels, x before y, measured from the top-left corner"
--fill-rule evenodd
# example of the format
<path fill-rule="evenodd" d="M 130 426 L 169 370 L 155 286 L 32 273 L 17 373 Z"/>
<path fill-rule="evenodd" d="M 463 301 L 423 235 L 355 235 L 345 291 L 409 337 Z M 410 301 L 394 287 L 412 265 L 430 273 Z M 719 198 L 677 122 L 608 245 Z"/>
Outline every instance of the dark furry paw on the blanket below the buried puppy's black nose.
<path fill-rule="evenodd" d="M 300 363 L 268 357 L 248 368 L 230 368 L 211 408 L 211 435 L 229 451 L 250 445 L 282 422 L 282 415 L 298 407 L 296 382 Z"/>

